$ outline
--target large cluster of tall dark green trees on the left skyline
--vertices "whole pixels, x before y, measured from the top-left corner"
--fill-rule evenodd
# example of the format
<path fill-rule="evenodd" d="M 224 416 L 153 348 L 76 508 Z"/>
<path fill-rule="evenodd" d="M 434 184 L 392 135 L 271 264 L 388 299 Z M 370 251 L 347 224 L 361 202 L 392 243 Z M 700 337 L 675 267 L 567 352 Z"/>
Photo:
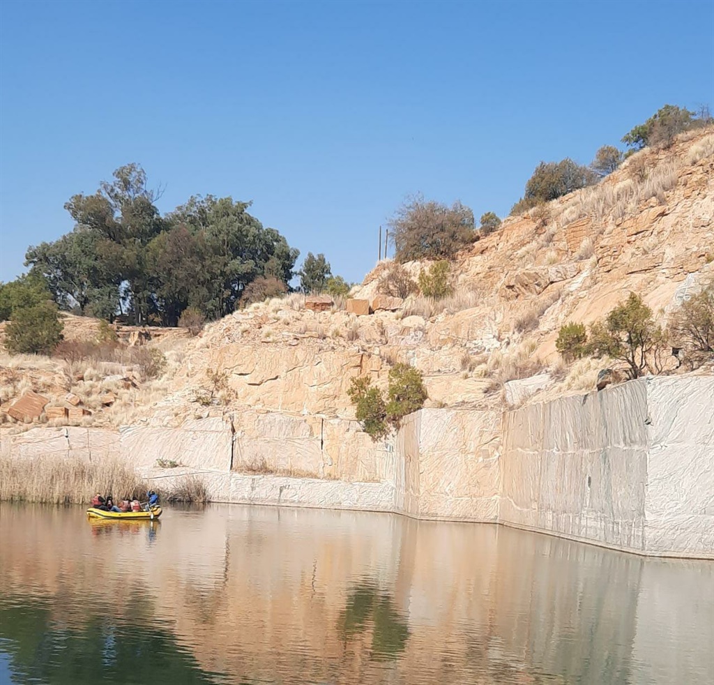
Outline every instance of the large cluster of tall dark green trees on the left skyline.
<path fill-rule="evenodd" d="M 94 194 L 69 199 L 74 230 L 31 246 L 26 266 L 62 309 L 166 326 L 188 307 L 211 319 L 230 314 L 259 276 L 292 278 L 298 250 L 251 216 L 250 203 L 191 196 L 161 216 L 158 198 L 141 166 L 121 166 Z"/>

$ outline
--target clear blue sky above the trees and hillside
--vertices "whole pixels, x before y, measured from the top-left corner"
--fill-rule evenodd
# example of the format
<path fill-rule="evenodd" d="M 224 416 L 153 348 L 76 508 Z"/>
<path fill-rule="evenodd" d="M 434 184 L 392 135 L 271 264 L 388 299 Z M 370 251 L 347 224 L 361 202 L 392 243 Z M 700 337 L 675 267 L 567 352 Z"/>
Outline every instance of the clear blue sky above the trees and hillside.
<path fill-rule="evenodd" d="M 0 279 L 139 162 L 361 280 L 408 194 L 505 216 L 665 103 L 714 107 L 714 3 L 0 3 Z"/>

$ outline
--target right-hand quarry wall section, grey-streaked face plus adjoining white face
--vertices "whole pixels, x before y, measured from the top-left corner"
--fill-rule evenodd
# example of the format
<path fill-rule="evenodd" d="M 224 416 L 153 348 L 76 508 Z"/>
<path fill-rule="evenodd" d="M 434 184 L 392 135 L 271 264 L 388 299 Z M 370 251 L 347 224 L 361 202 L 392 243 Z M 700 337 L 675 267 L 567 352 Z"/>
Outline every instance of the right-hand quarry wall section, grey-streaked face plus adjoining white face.
<path fill-rule="evenodd" d="M 714 378 L 646 378 L 506 414 L 501 523 L 714 557 Z"/>

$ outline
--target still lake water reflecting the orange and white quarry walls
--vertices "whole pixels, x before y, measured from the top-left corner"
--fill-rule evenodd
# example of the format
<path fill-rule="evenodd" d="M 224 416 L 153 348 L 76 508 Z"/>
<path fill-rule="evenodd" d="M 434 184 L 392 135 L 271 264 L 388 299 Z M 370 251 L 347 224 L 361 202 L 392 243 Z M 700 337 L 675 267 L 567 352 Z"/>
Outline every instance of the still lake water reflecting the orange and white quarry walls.
<path fill-rule="evenodd" d="M 714 683 L 714 564 L 387 514 L 0 505 L 0 683 Z"/>

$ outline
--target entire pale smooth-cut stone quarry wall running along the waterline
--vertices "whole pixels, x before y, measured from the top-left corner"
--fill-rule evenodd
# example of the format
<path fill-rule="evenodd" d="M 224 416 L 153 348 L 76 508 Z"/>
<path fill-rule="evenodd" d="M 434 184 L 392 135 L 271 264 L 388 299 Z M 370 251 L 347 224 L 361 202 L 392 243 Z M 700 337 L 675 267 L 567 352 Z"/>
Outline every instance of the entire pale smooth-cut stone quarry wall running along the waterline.
<path fill-rule="evenodd" d="M 423 409 L 378 444 L 347 419 L 246 410 L 232 421 L 119 433 L 38 428 L 1 449 L 123 455 L 162 484 L 199 473 L 216 501 L 500 521 L 642 554 L 714 557 L 713 396 L 710 376 L 670 377 L 524 406 L 503 420 Z M 181 466 L 156 469 L 159 459 Z"/>

